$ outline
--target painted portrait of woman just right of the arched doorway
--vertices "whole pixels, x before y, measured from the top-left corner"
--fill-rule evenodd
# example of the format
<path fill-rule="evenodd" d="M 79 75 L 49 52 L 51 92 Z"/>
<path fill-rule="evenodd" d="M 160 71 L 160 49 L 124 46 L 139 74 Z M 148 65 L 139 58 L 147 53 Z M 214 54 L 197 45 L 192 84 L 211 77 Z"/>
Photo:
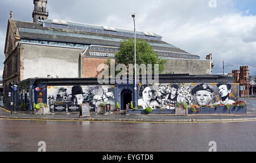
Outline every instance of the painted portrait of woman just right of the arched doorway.
<path fill-rule="evenodd" d="M 154 94 L 154 89 L 152 89 L 152 86 L 149 84 L 144 84 L 141 86 L 139 90 L 139 96 L 142 98 L 138 100 L 138 105 L 142 106 L 143 109 L 150 106 L 153 108 L 154 106 L 158 106 L 158 102 L 152 98 Z"/>

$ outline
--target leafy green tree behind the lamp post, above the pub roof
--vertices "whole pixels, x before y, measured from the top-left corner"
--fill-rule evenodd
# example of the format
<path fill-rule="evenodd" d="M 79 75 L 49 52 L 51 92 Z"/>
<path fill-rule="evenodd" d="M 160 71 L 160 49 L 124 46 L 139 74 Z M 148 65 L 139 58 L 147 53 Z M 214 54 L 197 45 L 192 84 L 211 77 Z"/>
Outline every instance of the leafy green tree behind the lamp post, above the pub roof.
<path fill-rule="evenodd" d="M 152 65 L 152 74 L 154 74 L 154 65 L 159 65 L 159 73 L 164 71 L 166 65 L 165 59 L 159 59 L 159 55 L 154 52 L 151 46 L 144 40 L 136 40 L 136 63 L 138 65 Z M 124 64 L 129 70 L 129 64 L 134 65 L 134 39 L 124 40 L 120 42 L 119 52 L 115 54 L 115 65 Z"/>

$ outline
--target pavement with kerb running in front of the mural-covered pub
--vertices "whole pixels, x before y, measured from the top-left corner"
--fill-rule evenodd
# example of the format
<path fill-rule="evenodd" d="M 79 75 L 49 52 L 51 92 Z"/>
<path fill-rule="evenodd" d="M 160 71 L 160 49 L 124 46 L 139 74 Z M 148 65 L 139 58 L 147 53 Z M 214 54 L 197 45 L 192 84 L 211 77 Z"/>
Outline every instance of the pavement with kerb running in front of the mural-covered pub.
<path fill-rule="evenodd" d="M 113 112 L 110 114 L 90 113 L 90 118 L 79 118 L 78 112 L 56 113 L 35 115 L 32 111 L 10 111 L 1 105 L 0 119 L 27 119 L 27 120 L 47 120 L 47 121 L 92 121 L 92 122 L 229 122 L 229 121 L 255 121 L 256 120 L 256 100 L 250 99 L 247 104 L 247 114 L 191 114 L 178 116 L 174 114 L 130 114 Z"/>

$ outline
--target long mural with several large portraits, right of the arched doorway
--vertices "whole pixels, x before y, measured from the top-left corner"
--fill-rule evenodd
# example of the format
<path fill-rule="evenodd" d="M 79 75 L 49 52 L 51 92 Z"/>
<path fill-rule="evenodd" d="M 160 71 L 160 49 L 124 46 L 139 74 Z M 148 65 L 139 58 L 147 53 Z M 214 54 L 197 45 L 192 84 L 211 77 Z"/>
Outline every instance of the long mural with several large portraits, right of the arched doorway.
<path fill-rule="evenodd" d="M 138 108 L 175 109 L 177 102 L 189 105 L 233 104 L 237 85 L 229 83 L 183 83 L 139 85 Z"/>

